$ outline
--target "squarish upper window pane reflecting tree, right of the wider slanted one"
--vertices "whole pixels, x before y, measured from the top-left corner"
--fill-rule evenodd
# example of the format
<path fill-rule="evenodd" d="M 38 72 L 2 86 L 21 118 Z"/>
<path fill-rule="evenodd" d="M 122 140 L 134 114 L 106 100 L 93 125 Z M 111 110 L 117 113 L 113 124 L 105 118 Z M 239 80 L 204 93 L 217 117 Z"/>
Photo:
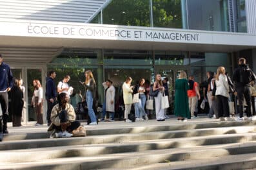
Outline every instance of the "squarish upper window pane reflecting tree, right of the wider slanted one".
<path fill-rule="evenodd" d="M 182 28 L 180 0 L 153 0 L 153 26 Z"/>

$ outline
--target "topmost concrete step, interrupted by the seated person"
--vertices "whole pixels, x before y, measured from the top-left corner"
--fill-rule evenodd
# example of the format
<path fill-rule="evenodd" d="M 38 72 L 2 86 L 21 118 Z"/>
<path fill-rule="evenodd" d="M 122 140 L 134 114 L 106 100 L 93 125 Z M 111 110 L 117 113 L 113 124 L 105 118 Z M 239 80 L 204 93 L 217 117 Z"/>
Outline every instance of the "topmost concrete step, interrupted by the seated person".
<path fill-rule="evenodd" d="M 152 121 L 151 121 L 152 122 Z M 150 123 L 151 123 L 150 122 Z M 152 126 L 150 124 L 143 123 L 144 126 L 141 124 L 128 124 L 128 126 L 123 126 L 123 128 L 119 128 L 119 126 L 110 126 L 104 128 L 97 128 L 92 129 L 91 126 L 86 127 L 86 133 L 88 136 L 92 135 L 113 135 L 113 134 L 124 134 L 124 133 L 146 133 L 146 132 L 163 132 L 163 131 L 174 131 L 174 130 L 193 130 L 193 129 L 202 129 L 202 128 L 221 128 L 221 127 L 233 127 L 233 126 L 254 126 L 256 125 L 256 121 L 244 121 L 244 122 L 235 122 L 235 121 L 228 121 L 228 122 L 206 122 L 206 123 L 199 123 L 199 122 L 189 122 L 189 123 L 179 123 L 179 124 L 168 124 L 168 125 L 161 125 L 157 124 Z M 130 125 L 130 126 L 129 126 Z M 135 127 L 133 127 L 135 125 Z M 32 126 L 31 128 L 21 128 L 17 129 L 14 128 L 10 130 L 10 134 L 5 135 L 3 141 L 10 141 L 10 140 L 29 140 L 29 139 L 48 139 L 50 133 L 47 131 L 46 126 L 39 126 L 35 128 Z"/>

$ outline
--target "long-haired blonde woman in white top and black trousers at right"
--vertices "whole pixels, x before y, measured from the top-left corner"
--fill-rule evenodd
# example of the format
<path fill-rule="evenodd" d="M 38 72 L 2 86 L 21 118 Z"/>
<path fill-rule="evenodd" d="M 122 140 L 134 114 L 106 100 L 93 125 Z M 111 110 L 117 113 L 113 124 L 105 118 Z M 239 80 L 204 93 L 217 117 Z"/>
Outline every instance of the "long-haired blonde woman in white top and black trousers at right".
<path fill-rule="evenodd" d="M 230 110 L 228 108 L 228 98 L 230 98 L 229 94 L 229 86 L 228 86 L 228 78 L 225 75 L 225 68 L 218 67 L 217 69 L 217 76 L 216 76 L 216 92 L 215 96 L 217 98 L 217 108 L 218 114 L 221 118 L 221 121 L 228 120 L 230 117 Z M 223 119 L 223 117 L 225 117 Z"/>

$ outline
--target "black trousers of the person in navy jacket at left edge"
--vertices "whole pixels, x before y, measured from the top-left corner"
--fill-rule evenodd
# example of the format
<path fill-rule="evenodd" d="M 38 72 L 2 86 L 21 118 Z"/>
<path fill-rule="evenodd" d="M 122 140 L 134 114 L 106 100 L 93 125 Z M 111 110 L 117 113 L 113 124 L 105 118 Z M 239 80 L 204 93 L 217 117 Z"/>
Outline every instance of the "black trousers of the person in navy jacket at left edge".
<path fill-rule="evenodd" d="M 7 129 L 8 121 L 8 92 L 0 92 L 0 104 L 3 111 L 3 129 Z"/>

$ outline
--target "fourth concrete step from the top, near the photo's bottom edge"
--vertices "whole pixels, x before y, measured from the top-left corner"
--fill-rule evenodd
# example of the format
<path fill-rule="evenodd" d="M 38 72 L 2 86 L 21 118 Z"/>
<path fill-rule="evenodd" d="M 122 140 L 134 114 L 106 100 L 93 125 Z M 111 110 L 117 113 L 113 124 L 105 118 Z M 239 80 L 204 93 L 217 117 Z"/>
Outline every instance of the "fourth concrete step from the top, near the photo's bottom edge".
<path fill-rule="evenodd" d="M 159 164 L 168 162 L 174 164 L 187 161 L 208 162 L 219 157 L 228 157 L 235 155 L 237 159 L 243 155 L 253 155 L 256 153 L 255 142 L 244 144 L 234 144 L 232 146 L 206 146 L 190 149 L 162 149 L 157 151 L 140 151 L 135 153 L 118 153 L 111 155 L 102 155 L 95 157 L 70 157 L 70 158 L 52 158 L 50 160 L 35 160 L 34 162 L 22 163 L 1 163 L 0 169 L 104 169 L 107 167 L 124 168 L 144 166 L 148 164 Z M 200 161 L 199 161 L 200 160 Z M 185 163 L 186 161 L 186 163 Z M 179 163 L 182 164 L 182 163 Z M 166 164 L 162 164 L 166 166 Z M 181 166 L 181 165 L 177 165 Z M 174 166 L 172 166 L 174 167 Z M 144 168 L 144 167 L 143 167 Z"/>

